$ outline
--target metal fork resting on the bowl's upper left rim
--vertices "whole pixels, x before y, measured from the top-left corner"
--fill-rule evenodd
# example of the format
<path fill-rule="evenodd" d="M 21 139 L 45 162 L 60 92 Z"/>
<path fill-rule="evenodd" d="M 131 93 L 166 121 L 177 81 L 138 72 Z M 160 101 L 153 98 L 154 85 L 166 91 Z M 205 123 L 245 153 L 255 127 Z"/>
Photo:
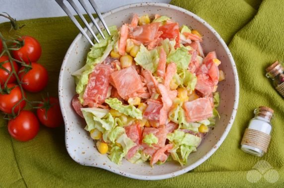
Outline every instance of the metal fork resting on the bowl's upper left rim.
<path fill-rule="evenodd" d="M 92 42 L 92 40 L 88 37 L 88 35 L 86 34 L 86 32 L 83 30 L 83 28 L 81 27 L 81 25 L 79 24 L 79 22 L 76 20 L 76 18 L 72 15 L 71 11 L 68 9 L 68 7 L 64 4 L 64 0 L 55 0 L 60 6 L 61 8 L 67 13 L 67 15 L 70 17 L 70 19 L 72 20 L 72 22 L 77 26 L 77 28 L 80 30 L 80 32 L 84 35 L 84 37 L 89 41 L 89 43 L 94 46 L 94 43 Z M 95 40 L 97 41 L 97 43 L 99 43 L 100 41 L 98 40 L 98 38 L 96 37 L 95 33 L 93 32 L 92 28 L 90 27 L 90 25 L 88 24 L 87 20 L 84 18 L 83 14 L 80 12 L 78 6 L 74 3 L 73 0 L 66 0 L 70 3 L 70 5 L 74 8 L 74 10 L 77 12 L 78 16 L 81 18 L 81 20 L 84 22 L 84 24 L 86 25 L 86 27 L 88 28 L 88 30 L 91 32 L 91 34 L 93 35 L 93 37 L 95 38 Z M 97 22 L 95 21 L 93 15 L 91 14 L 91 12 L 89 11 L 87 5 L 85 4 L 84 0 L 78 0 L 80 2 L 80 4 L 82 5 L 82 7 L 85 9 L 85 11 L 87 12 L 87 14 L 89 15 L 89 17 L 91 18 L 92 22 L 94 23 L 95 27 L 97 28 L 97 30 L 99 31 L 99 33 L 101 34 L 101 36 L 103 37 L 103 39 L 105 39 L 105 36 L 103 34 L 103 32 L 101 31 L 100 27 L 98 26 Z M 102 17 L 102 14 L 100 13 L 100 11 L 98 11 L 98 7 L 95 4 L 94 0 L 89 0 L 90 4 L 92 5 L 92 7 L 94 8 L 96 14 L 98 15 L 99 19 L 101 20 L 104 28 L 106 29 L 107 33 L 110 35 L 109 29 Z"/>

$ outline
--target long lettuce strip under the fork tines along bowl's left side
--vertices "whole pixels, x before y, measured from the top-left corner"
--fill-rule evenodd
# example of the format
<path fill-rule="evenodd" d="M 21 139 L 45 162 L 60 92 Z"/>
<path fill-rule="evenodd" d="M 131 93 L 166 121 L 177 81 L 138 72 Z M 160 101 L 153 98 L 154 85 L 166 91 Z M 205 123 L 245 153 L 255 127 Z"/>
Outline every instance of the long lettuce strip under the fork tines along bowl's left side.
<path fill-rule="evenodd" d="M 118 41 L 118 29 L 116 26 L 109 27 L 111 36 L 104 30 L 106 39 L 102 39 L 101 35 L 97 35 L 100 43 L 96 43 L 87 54 L 86 64 L 72 73 L 76 80 L 76 93 L 79 94 L 79 100 L 83 103 L 83 93 L 88 84 L 89 74 L 92 73 L 94 67 L 98 63 L 102 63 L 114 48 L 114 44 Z"/>

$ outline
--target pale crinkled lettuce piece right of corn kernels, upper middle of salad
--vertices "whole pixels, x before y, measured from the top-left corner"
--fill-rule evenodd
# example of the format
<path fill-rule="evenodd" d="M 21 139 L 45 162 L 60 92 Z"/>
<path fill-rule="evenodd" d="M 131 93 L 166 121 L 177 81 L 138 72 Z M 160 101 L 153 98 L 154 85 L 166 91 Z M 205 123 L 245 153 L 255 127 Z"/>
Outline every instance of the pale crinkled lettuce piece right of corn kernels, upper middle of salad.
<path fill-rule="evenodd" d="M 148 51 L 143 45 L 141 45 L 140 51 L 134 60 L 136 64 L 141 65 L 144 69 L 155 72 L 159 61 L 158 51 L 157 49 Z"/>

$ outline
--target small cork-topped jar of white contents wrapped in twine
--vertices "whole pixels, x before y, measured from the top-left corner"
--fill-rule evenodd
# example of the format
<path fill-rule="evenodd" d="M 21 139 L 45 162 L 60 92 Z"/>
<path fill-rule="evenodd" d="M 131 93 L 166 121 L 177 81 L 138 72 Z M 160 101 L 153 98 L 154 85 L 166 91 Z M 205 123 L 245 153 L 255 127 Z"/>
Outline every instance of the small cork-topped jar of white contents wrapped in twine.
<path fill-rule="evenodd" d="M 267 152 L 272 130 L 271 119 L 274 111 L 261 106 L 254 110 L 255 117 L 250 121 L 241 141 L 241 150 L 262 157 Z"/>

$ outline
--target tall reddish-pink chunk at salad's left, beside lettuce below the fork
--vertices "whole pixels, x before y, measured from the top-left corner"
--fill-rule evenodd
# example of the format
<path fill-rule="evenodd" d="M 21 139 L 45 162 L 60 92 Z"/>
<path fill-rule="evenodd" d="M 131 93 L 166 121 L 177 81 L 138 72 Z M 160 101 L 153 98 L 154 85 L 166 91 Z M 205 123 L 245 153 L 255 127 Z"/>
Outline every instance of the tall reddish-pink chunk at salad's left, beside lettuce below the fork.
<path fill-rule="evenodd" d="M 89 75 L 87 87 L 85 89 L 83 105 L 89 103 L 102 104 L 105 102 L 108 93 L 111 65 L 97 64 L 93 72 Z"/>

